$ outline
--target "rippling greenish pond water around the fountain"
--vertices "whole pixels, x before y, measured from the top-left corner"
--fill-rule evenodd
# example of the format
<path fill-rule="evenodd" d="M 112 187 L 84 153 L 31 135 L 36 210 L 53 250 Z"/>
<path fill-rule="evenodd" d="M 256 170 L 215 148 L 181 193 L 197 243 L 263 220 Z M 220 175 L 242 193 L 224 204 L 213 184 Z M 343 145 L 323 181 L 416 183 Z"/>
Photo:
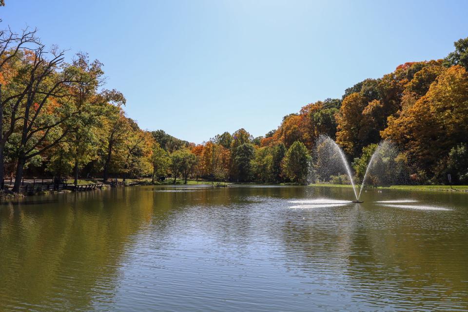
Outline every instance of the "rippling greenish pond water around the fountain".
<path fill-rule="evenodd" d="M 0 205 L 0 311 L 467 311 L 468 194 L 128 187 Z"/>

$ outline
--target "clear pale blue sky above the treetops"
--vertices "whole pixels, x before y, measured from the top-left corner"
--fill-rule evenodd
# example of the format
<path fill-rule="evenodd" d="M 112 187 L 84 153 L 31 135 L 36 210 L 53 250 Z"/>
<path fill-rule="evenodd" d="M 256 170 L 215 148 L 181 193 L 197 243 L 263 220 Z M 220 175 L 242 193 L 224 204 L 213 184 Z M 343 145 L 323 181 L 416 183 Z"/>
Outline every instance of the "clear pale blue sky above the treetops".
<path fill-rule="evenodd" d="M 468 1 L 6 0 L 3 26 L 104 63 L 127 116 L 200 143 L 439 59 L 468 37 Z"/>

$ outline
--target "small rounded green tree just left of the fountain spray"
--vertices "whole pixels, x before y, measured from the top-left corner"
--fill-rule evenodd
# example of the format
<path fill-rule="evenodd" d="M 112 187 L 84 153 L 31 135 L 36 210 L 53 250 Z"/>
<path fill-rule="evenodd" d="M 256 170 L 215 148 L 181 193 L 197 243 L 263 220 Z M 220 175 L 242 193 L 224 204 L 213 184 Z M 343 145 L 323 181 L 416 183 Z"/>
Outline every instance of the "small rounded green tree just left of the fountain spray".
<path fill-rule="evenodd" d="M 307 182 L 310 160 L 311 156 L 304 143 L 296 141 L 283 159 L 283 173 L 292 182 L 304 184 Z"/>

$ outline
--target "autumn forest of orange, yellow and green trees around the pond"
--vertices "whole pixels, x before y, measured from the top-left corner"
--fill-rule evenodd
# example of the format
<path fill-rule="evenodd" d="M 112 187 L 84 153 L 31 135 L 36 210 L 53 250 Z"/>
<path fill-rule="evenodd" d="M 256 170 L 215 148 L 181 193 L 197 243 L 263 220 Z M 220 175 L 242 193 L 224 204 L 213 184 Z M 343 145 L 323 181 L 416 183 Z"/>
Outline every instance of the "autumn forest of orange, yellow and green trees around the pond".
<path fill-rule="evenodd" d="M 468 38 L 454 47 L 445 59 L 403 63 L 354 84 L 342 98 L 307 104 L 265 136 L 239 129 L 196 145 L 140 129 L 124 110 L 138 103 L 105 88 L 98 60 L 47 48 L 36 29 L 6 28 L 0 32 L 0 186 L 14 179 L 18 192 L 24 176 L 304 184 L 322 135 L 344 149 L 358 179 L 364 160 L 386 139 L 398 146 L 406 183 L 445 184 L 448 173 L 454 183 L 467 183 Z"/>

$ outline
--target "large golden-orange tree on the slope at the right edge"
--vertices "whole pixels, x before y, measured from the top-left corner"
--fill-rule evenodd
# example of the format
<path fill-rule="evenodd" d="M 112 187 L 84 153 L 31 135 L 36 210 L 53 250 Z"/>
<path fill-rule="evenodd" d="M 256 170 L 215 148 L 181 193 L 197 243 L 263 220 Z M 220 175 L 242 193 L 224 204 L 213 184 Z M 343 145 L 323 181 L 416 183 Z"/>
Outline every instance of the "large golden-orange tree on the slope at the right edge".
<path fill-rule="evenodd" d="M 460 143 L 468 142 L 468 74 L 455 65 L 442 73 L 428 93 L 399 117 L 389 117 L 382 137 L 408 151 L 410 161 L 428 175 Z"/>

